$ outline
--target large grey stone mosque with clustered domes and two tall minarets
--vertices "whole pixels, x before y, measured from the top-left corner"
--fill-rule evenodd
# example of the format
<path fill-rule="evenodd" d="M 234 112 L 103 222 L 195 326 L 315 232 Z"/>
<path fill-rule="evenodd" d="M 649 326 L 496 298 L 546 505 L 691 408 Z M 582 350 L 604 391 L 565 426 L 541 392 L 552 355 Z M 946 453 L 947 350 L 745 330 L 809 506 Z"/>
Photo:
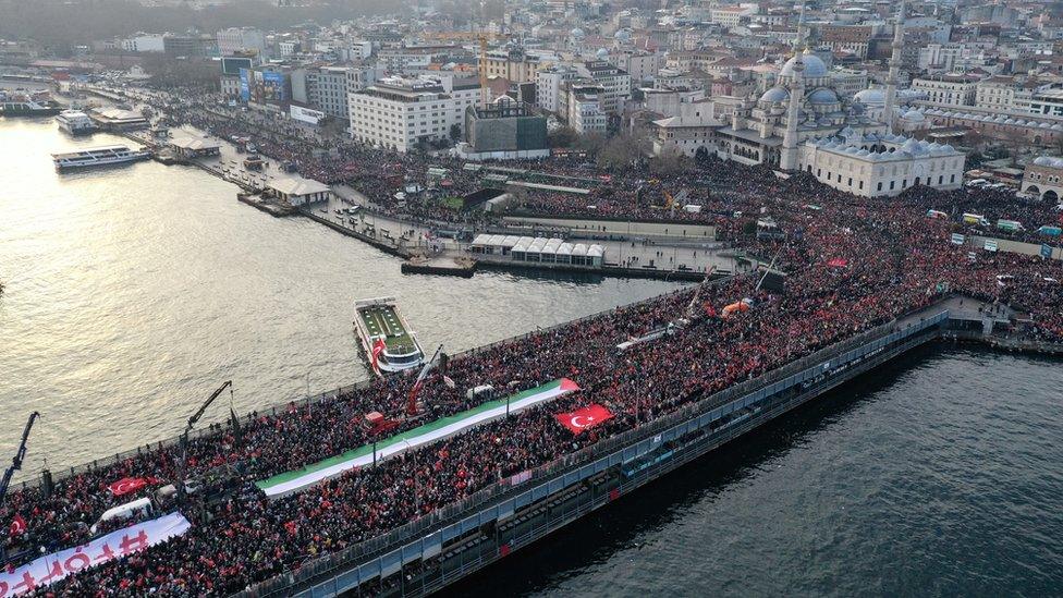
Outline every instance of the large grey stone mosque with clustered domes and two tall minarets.
<path fill-rule="evenodd" d="M 807 49 L 795 51 L 775 85 L 756 102 L 735 110 L 730 126 L 716 131 L 717 155 L 805 171 L 826 185 L 865 197 L 896 195 L 916 185 L 958 188 L 963 152 L 899 134 L 925 126 L 920 112 L 903 112 L 896 106 L 903 20 L 904 0 L 884 89 L 862 91 L 846 105 L 823 61 Z M 801 32 L 798 21 L 798 45 Z"/>

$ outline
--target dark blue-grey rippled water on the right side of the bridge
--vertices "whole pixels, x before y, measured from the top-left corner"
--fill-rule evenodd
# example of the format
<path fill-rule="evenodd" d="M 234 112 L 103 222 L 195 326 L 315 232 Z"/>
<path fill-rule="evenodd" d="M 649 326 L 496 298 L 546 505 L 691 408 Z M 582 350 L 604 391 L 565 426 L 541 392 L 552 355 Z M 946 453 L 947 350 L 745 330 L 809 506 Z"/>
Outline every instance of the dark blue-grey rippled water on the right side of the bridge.
<path fill-rule="evenodd" d="M 1060 596 L 1061 366 L 921 350 L 450 595 Z"/>

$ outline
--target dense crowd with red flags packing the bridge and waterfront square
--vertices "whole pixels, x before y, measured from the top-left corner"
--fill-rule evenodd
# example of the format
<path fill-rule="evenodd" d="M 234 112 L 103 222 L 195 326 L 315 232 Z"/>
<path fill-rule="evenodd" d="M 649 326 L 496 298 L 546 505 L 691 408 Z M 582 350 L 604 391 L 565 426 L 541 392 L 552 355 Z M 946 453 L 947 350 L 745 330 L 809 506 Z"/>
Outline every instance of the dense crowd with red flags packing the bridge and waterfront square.
<path fill-rule="evenodd" d="M 213 120 L 197 123 L 196 114 L 193 105 L 182 118 L 219 134 L 243 132 L 237 125 L 231 132 L 222 130 Z M 262 151 L 270 156 L 309 168 L 304 170 L 308 175 L 323 174 L 330 181 L 334 180 L 330 173 L 342 173 L 344 181 L 352 180 L 343 166 L 351 159 L 344 156 L 347 149 L 332 148 L 341 156 L 335 166 L 318 160 L 317 166 L 308 167 L 306 157 L 319 149 L 315 143 L 294 141 L 295 134 L 267 139 L 259 133 L 255 138 L 261 139 Z M 276 147 L 268 145 L 273 143 Z M 369 169 L 376 172 L 361 176 L 393 178 L 421 166 L 412 158 L 378 156 Z M 543 171 L 567 168 L 551 162 L 537 167 Z M 460 169 L 451 172 L 455 170 Z M 649 181 L 648 173 L 618 176 Z M 893 199 L 871 200 L 830 190 L 807 174 L 780 179 L 768 169 L 711 159 L 684 176 L 699 182 L 702 191 L 696 199 L 702 205 L 704 218 L 736 245 L 777 259 L 777 268 L 787 274 L 782 291 L 759 288 L 754 274 L 736 277 L 455 357 L 445 370 L 433 371 L 426 380 L 421 419 L 403 417 L 413 380 L 402 376 L 375 380 L 364 389 L 311 405 L 248 414 L 239 426 L 222 426 L 217 434 L 192 441 L 186 475 L 204 488 L 193 496 L 193 505 L 185 508 L 194 525 L 184 536 L 36 591 L 100 596 L 239 591 L 394 529 L 501 478 L 549 464 L 926 307 L 945 292 L 1021 309 L 1022 321 L 1016 326 L 1025 326 L 1030 338 L 1063 342 L 1060 261 L 1018 254 L 972 254 L 967 247 L 950 243 L 954 221 L 926 216 L 929 209 L 950 213 L 980 210 L 1035 221 L 1051 216 L 1053 206 L 1003 193 L 940 193 L 927 187 Z M 466 185 L 460 178 L 454 181 L 455 186 Z M 672 183 L 660 185 L 667 188 Z M 626 185 L 602 188 L 614 190 L 614 196 L 635 193 Z M 561 209 L 567 200 L 542 197 L 539 207 L 543 210 Z M 618 202 L 620 206 L 627 199 Z M 612 208 L 602 211 L 606 209 Z M 748 230 L 749 222 L 767 217 L 778 223 L 781 235 L 761 236 Z M 720 315 L 724 305 L 743 298 L 750 300 L 747 312 Z M 618 343 L 670 324 L 674 325 L 672 334 L 624 352 L 616 350 Z M 443 376 L 453 385 L 444 383 Z M 582 390 L 375 467 L 278 500 L 267 499 L 253 484 L 372 442 L 376 434 L 365 423 L 369 412 L 399 422 L 386 432 L 390 436 L 475 406 L 480 400 L 467 396 L 467 389 L 491 385 L 512 392 L 561 377 L 576 381 Z M 606 406 L 615 417 L 577 436 L 554 419 L 557 413 L 589 403 Z M 21 518 L 24 530 L 8 535 L 9 554 L 21 552 L 20 562 L 26 562 L 87 541 L 100 533 L 90 532 L 90 526 L 105 510 L 152 496 L 159 486 L 176 479 L 176 456 L 175 448 L 163 447 L 64 477 L 49 497 L 36 487 L 12 492 L 0 508 L 0 522 Z M 108 489 L 121 478 L 149 476 L 156 481 L 126 496 L 115 497 Z M 213 492 L 218 488 L 227 491 Z M 206 501 L 207 496 L 220 499 Z"/>

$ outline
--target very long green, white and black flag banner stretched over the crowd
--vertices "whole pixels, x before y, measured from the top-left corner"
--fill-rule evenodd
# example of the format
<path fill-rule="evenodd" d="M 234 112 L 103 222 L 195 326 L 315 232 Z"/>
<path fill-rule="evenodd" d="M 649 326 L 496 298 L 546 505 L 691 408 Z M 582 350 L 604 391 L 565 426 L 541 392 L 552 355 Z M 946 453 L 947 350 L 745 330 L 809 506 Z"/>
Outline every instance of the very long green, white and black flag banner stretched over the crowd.
<path fill-rule="evenodd" d="M 518 392 L 506 399 L 488 401 L 468 411 L 463 411 L 377 441 L 376 459 L 377 461 L 388 459 L 411 449 L 416 449 L 454 436 L 473 426 L 504 417 L 506 402 L 509 402 L 510 413 L 516 413 L 577 390 L 579 390 L 579 387 L 575 382 L 567 378 L 561 378 L 541 387 Z M 340 476 L 355 467 L 371 465 L 372 460 L 372 444 L 366 444 L 365 447 L 352 449 L 325 461 L 307 465 L 302 469 L 278 474 L 271 478 L 256 481 L 255 485 L 261 488 L 266 492 L 266 496 L 280 498 L 293 492 L 303 491 L 323 479 Z"/>

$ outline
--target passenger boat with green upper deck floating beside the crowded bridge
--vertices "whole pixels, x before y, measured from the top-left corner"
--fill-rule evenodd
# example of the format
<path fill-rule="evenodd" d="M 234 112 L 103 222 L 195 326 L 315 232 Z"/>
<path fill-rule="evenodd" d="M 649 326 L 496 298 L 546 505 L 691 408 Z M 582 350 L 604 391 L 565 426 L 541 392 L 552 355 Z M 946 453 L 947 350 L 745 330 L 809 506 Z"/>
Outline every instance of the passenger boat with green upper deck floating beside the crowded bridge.
<path fill-rule="evenodd" d="M 354 303 L 357 312 L 354 329 L 370 367 L 374 347 L 383 345 L 376 356 L 374 371 L 378 376 L 413 369 L 425 362 L 425 352 L 394 301 L 394 297 L 380 297 Z"/>

